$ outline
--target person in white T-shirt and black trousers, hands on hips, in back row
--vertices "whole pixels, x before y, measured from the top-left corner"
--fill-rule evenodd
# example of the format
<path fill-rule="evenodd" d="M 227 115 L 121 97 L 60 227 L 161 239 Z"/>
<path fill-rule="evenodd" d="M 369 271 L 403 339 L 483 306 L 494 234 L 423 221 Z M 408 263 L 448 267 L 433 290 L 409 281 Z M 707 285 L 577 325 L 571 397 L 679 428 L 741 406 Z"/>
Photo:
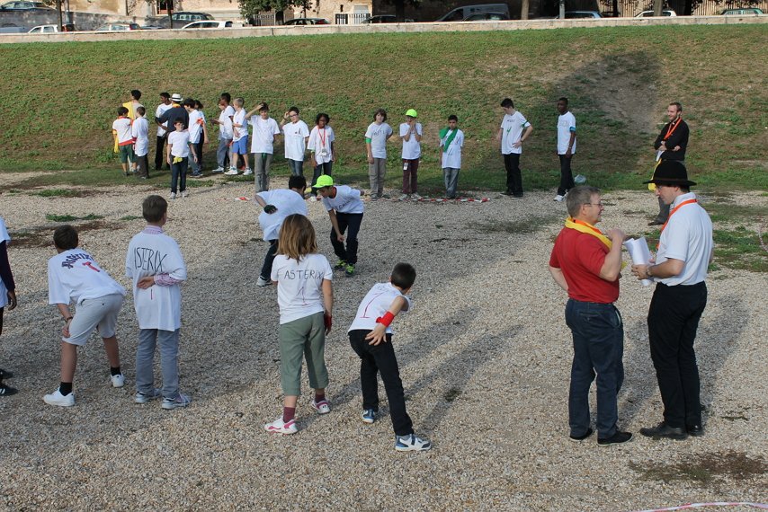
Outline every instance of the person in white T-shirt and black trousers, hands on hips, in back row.
<path fill-rule="evenodd" d="M 501 121 L 496 140 L 501 143 L 501 154 L 504 155 L 506 169 L 505 196 L 514 199 L 522 199 L 522 175 L 520 173 L 520 154 L 522 143 L 531 136 L 533 127 L 520 112 L 514 110 L 514 103 L 510 98 L 501 102 L 504 109 L 504 118 Z"/>

